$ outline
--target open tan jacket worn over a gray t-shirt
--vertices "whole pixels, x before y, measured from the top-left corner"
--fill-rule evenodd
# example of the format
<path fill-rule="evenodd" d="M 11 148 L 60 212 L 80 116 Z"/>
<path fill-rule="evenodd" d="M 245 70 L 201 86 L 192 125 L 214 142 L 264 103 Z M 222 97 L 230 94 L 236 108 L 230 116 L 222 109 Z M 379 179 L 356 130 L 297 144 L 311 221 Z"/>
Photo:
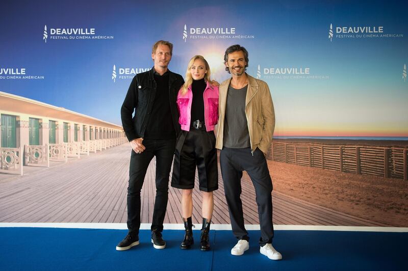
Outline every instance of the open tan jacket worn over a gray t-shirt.
<path fill-rule="evenodd" d="M 271 93 L 264 81 L 248 74 L 246 76 L 248 76 L 248 90 L 245 98 L 245 116 L 248 122 L 251 150 L 254 151 L 259 148 L 262 152 L 267 153 L 275 129 L 275 112 Z M 225 80 L 219 86 L 219 120 L 215 145 L 217 149 L 222 149 L 223 145 L 226 94 L 231 79 Z"/>

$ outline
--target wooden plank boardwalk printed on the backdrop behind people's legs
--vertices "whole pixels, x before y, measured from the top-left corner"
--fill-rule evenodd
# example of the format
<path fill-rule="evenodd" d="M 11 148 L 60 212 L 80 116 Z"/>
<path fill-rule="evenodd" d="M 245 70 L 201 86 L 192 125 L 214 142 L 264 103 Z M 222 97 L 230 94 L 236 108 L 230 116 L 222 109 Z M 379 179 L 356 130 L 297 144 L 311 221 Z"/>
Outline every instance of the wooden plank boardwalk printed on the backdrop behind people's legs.
<path fill-rule="evenodd" d="M 1 222 L 125 223 L 129 175 L 128 144 L 53 163 L 50 168 L 30 168 L 24 176 L 0 174 Z M 151 222 L 154 207 L 155 159 L 142 189 L 142 223 Z M 201 221 L 198 178 L 193 194 L 193 222 Z M 214 192 L 213 224 L 230 224 L 221 174 Z M 387 226 L 273 192 L 273 223 L 278 225 Z M 245 224 L 259 224 L 255 192 L 248 176 L 242 180 Z M 169 188 L 164 223 L 182 223 L 181 192 Z"/>

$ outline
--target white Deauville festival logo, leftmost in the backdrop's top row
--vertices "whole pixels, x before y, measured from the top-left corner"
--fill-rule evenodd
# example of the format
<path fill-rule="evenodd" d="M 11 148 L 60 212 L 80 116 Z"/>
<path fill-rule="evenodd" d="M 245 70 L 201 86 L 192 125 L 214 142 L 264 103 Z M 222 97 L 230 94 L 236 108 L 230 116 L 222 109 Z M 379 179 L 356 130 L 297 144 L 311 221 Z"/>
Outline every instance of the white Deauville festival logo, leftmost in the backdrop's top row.
<path fill-rule="evenodd" d="M 48 34 L 49 31 L 49 34 Z M 112 40 L 113 35 L 99 34 L 94 28 L 48 28 L 44 25 L 42 39 L 47 40 Z"/>

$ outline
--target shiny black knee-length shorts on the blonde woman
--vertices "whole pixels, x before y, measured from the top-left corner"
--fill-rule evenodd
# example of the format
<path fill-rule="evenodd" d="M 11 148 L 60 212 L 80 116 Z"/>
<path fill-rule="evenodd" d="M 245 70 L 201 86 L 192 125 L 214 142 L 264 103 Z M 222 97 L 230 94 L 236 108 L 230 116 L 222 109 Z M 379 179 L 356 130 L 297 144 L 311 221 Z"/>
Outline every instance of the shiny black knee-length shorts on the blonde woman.
<path fill-rule="evenodd" d="M 218 163 L 214 131 L 190 128 L 182 130 L 175 145 L 171 186 L 194 188 L 195 168 L 198 169 L 200 191 L 218 189 Z"/>

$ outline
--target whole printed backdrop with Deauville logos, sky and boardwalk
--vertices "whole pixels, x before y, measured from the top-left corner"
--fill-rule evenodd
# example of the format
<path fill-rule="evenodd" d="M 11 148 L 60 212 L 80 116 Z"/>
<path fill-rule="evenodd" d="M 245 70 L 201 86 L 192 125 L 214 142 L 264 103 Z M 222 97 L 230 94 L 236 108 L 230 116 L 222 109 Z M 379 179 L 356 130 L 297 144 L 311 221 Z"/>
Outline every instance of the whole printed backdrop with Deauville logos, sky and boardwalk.
<path fill-rule="evenodd" d="M 408 2 L 7 1 L 0 9 L 0 223 L 125 223 L 131 147 L 120 107 L 173 43 L 221 83 L 249 52 L 276 116 L 267 154 L 278 225 L 408 227 Z M 135 116 L 137 118 L 137 116 Z M 142 189 L 151 223 L 156 161 Z M 171 177 L 171 176 L 170 176 Z M 201 221 L 198 177 L 193 222 Z M 249 176 L 245 224 L 259 224 Z M 213 224 L 230 224 L 221 172 Z M 165 223 L 182 223 L 169 188 Z"/>

